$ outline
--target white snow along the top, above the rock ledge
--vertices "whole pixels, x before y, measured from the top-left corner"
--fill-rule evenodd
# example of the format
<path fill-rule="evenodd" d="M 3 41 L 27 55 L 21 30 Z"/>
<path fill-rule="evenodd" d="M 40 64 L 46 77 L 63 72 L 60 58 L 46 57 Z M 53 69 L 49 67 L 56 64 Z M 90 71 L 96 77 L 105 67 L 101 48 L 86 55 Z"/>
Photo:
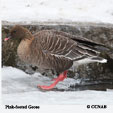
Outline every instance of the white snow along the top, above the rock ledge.
<path fill-rule="evenodd" d="M 113 24 L 113 0 L 1 0 L 11 22 L 104 22 Z"/>

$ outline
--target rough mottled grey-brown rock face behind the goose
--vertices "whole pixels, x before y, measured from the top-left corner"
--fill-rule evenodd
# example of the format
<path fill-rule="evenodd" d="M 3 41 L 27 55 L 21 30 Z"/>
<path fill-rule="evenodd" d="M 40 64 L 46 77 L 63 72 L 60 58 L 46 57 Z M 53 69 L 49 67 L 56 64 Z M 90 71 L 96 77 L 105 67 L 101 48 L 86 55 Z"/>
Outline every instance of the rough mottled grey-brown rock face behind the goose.
<path fill-rule="evenodd" d="M 105 80 L 113 79 L 113 25 L 109 24 L 74 24 L 74 25 L 24 25 L 32 33 L 38 32 L 43 29 L 55 29 L 58 31 L 64 31 L 77 36 L 83 36 L 95 42 L 105 44 L 110 48 L 110 51 L 103 51 L 101 56 L 107 58 L 106 64 L 85 64 L 76 69 L 70 69 L 69 77 L 84 78 L 90 80 Z M 26 73 L 33 74 L 35 71 L 41 72 L 43 75 L 51 75 L 48 70 L 46 73 L 40 71 L 36 67 L 27 65 L 19 60 L 16 50 L 18 41 L 9 40 L 4 42 L 3 39 L 8 33 L 11 25 L 2 26 L 2 65 L 13 66 L 24 70 Z"/>

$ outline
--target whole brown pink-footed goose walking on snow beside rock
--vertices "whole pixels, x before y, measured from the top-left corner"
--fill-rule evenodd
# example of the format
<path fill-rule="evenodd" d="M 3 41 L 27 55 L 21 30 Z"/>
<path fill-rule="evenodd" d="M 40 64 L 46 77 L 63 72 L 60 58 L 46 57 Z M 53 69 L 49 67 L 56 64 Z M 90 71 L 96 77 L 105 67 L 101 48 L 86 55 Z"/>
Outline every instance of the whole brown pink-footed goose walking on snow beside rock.
<path fill-rule="evenodd" d="M 50 86 L 38 85 L 45 90 L 50 90 L 59 81 L 63 81 L 67 77 L 67 70 L 73 65 L 107 61 L 98 57 L 99 52 L 95 49 L 102 44 L 61 31 L 42 30 L 32 35 L 28 29 L 15 25 L 5 41 L 10 38 L 20 40 L 17 53 L 22 61 L 59 73 Z"/>

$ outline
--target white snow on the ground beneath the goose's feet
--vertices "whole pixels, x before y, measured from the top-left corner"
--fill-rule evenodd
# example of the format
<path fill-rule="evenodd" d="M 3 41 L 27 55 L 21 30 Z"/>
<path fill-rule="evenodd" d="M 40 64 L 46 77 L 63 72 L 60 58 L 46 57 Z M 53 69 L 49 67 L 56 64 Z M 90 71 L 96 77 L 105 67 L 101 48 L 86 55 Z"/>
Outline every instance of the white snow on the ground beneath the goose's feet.
<path fill-rule="evenodd" d="M 66 89 L 79 81 L 65 79 L 57 85 Z M 113 90 L 107 91 L 41 91 L 37 84 L 50 84 L 51 79 L 40 73 L 28 75 L 13 67 L 2 68 L 2 103 L 3 104 L 111 104 Z"/>

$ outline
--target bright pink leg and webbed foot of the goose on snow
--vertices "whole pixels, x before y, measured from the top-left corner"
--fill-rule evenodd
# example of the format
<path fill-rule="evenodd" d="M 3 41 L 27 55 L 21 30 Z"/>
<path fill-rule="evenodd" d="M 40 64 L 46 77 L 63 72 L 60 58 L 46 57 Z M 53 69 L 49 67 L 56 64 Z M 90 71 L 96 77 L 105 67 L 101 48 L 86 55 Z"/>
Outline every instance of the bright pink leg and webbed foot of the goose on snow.
<path fill-rule="evenodd" d="M 67 71 L 64 71 L 63 73 L 61 73 L 58 76 L 58 78 L 55 79 L 55 82 L 52 83 L 50 86 L 38 85 L 38 87 L 41 88 L 41 89 L 50 90 L 50 89 L 53 89 L 56 86 L 56 84 L 58 84 L 58 82 L 63 81 L 65 78 L 67 78 Z"/>

